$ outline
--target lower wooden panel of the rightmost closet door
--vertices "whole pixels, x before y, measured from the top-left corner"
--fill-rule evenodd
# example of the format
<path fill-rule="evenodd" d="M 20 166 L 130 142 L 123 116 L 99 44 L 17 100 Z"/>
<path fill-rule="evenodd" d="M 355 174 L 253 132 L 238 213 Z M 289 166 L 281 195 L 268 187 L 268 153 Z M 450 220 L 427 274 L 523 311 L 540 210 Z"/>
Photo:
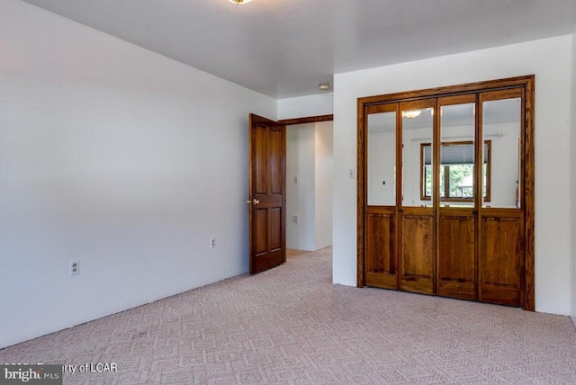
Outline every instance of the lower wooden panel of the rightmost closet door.
<path fill-rule="evenodd" d="M 518 210 L 484 210 L 480 300 L 524 306 L 523 233 L 523 221 Z"/>

